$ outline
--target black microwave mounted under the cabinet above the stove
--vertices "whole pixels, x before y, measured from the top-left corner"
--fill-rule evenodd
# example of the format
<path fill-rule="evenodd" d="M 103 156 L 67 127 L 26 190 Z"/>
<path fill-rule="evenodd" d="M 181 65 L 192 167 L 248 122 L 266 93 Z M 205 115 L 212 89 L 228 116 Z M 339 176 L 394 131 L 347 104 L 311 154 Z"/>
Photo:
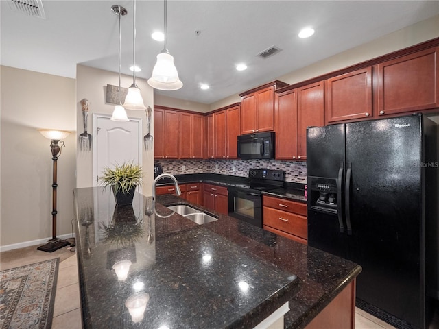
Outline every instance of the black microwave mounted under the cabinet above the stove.
<path fill-rule="evenodd" d="M 238 136 L 238 157 L 241 159 L 274 159 L 274 132 Z"/>

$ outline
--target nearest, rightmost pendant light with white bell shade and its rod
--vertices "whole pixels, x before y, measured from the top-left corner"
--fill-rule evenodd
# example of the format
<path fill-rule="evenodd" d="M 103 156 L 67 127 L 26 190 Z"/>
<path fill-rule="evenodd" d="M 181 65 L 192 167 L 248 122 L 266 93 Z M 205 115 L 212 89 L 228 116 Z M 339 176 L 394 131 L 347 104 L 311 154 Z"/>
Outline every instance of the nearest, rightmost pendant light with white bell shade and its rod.
<path fill-rule="evenodd" d="M 174 65 L 174 57 L 171 56 L 166 48 L 167 41 L 167 0 L 165 2 L 164 23 L 165 23 L 165 40 L 163 50 L 157 55 L 157 62 L 152 69 L 152 76 L 148 79 L 148 84 L 152 88 L 159 90 L 177 90 L 183 86 L 178 78 L 178 72 Z"/>

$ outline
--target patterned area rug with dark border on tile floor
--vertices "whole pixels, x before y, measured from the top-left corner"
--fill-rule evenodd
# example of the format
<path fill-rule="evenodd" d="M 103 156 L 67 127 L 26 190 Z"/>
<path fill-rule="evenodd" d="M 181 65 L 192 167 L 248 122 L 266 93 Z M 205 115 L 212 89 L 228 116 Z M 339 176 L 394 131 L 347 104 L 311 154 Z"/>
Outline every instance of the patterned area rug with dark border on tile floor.
<path fill-rule="evenodd" d="M 50 329 L 59 258 L 0 272 L 0 328 Z"/>

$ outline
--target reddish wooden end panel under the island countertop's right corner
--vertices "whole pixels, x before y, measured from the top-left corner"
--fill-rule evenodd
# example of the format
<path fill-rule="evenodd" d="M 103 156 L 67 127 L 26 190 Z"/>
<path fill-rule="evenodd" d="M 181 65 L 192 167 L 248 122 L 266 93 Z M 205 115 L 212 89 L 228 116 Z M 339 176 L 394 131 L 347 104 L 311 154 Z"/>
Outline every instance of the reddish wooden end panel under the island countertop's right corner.
<path fill-rule="evenodd" d="M 305 327 L 321 328 L 355 328 L 355 279 Z"/>

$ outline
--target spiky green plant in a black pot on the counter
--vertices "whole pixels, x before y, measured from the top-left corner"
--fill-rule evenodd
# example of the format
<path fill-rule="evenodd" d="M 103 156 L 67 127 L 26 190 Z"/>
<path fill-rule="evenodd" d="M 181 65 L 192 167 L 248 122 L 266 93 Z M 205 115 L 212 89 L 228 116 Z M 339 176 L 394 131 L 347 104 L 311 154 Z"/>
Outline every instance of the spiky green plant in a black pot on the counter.
<path fill-rule="evenodd" d="M 116 164 L 115 168 L 105 167 L 99 182 L 104 187 L 110 186 L 115 195 L 117 206 L 132 204 L 134 191 L 142 184 L 142 168 L 133 162 Z"/>

